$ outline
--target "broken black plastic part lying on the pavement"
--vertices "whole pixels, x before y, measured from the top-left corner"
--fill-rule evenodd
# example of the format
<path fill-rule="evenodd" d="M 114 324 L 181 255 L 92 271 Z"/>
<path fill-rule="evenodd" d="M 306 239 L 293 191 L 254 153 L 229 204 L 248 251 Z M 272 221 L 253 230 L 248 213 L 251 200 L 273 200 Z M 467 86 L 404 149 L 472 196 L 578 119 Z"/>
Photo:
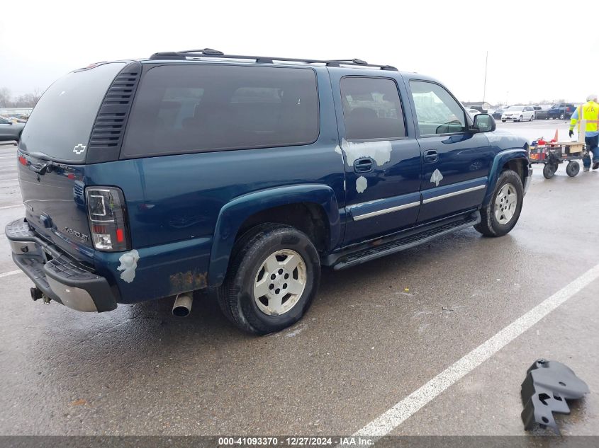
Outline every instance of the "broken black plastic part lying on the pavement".
<path fill-rule="evenodd" d="M 559 434 L 553 413 L 569 414 L 566 400 L 576 400 L 588 394 L 586 383 L 565 364 L 557 361 L 538 360 L 526 371 L 522 383 L 522 422 L 530 431 L 538 424 L 542 429 L 552 428 Z"/>

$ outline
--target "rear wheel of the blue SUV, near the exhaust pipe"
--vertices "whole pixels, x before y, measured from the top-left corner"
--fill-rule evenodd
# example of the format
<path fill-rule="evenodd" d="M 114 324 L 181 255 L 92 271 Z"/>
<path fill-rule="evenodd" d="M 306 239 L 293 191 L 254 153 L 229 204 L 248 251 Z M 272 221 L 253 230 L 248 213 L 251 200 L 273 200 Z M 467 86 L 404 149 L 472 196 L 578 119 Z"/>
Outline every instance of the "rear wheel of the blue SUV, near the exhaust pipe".
<path fill-rule="evenodd" d="M 238 328 L 274 333 L 303 316 L 319 282 L 320 258 L 308 236 L 291 226 L 263 224 L 235 243 L 218 303 Z"/>

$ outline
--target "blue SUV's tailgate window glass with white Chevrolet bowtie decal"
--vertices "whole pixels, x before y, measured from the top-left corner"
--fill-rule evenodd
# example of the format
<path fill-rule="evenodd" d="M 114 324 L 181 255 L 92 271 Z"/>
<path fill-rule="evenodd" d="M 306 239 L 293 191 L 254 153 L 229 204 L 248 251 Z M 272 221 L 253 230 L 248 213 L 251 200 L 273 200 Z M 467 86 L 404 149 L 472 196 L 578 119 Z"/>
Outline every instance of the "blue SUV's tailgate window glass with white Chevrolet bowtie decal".
<path fill-rule="evenodd" d="M 52 159 L 82 163 L 106 91 L 125 63 L 72 71 L 50 86 L 35 105 L 19 148 Z"/>

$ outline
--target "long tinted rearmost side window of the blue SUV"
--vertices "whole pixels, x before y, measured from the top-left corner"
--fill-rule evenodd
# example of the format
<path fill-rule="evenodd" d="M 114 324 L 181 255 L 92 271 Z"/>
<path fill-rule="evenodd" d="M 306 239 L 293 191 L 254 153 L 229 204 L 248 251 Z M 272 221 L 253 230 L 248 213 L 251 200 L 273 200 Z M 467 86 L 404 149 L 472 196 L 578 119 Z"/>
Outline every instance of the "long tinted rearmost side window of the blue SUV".
<path fill-rule="evenodd" d="M 142 78 L 123 156 L 283 147 L 317 138 L 312 69 L 164 65 Z"/>

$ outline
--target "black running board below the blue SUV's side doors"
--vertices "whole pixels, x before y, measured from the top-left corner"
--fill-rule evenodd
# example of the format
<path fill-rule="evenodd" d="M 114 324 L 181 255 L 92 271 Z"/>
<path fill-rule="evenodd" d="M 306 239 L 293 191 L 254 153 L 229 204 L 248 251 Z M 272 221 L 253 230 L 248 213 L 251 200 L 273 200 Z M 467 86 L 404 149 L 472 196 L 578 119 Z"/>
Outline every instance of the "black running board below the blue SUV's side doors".
<path fill-rule="evenodd" d="M 454 219 L 451 222 L 440 222 L 435 226 L 427 226 L 418 232 L 409 232 L 408 234 L 400 235 L 391 241 L 384 241 L 382 243 L 381 239 L 371 241 L 369 247 L 353 251 L 347 255 L 341 255 L 331 265 L 334 270 L 349 268 L 360 263 L 365 263 L 366 261 L 390 255 L 391 253 L 405 251 L 405 249 L 427 243 L 439 236 L 467 229 L 479 222 L 481 222 L 481 214 L 474 212 L 462 219 Z"/>

